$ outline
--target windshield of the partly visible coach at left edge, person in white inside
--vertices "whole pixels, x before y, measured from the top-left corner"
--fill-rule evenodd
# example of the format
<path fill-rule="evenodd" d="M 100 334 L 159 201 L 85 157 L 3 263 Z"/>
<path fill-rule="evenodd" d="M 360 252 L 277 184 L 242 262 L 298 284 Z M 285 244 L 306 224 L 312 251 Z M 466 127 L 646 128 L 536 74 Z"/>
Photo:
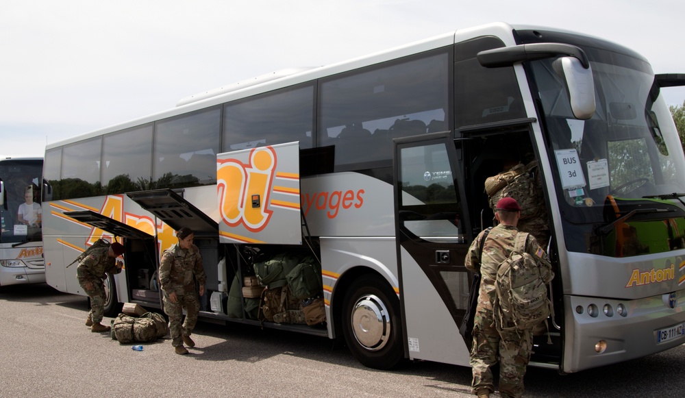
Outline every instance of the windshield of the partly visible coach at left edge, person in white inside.
<path fill-rule="evenodd" d="M 10 159 L 0 162 L 1 243 L 40 240 L 41 174 L 42 160 L 39 159 Z"/>

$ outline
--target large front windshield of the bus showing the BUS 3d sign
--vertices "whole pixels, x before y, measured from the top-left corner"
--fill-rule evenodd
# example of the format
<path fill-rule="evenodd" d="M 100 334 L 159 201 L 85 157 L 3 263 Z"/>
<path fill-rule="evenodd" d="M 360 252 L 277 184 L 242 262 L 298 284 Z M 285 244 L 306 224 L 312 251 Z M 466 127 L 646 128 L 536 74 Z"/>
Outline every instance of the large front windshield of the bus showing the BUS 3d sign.
<path fill-rule="evenodd" d="M 606 223 L 606 207 L 616 200 L 676 199 L 674 192 L 685 192 L 678 174 L 685 160 L 651 67 L 613 51 L 586 52 L 597 106 L 587 121 L 573 118 L 553 60 L 531 64 L 562 217 L 571 223 Z"/>

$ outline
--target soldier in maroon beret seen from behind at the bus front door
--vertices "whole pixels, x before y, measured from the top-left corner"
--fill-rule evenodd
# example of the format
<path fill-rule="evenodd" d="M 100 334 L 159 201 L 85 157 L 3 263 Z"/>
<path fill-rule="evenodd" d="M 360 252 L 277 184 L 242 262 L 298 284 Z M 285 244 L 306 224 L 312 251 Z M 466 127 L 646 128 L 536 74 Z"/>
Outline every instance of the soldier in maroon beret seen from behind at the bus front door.
<path fill-rule="evenodd" d="M 499 225 L 486 237 L 483 252 L 479 253 L 481 232 L 466 253 L 466 269 L 482 275 L 478 304 L 473 322 L 473 393 L 478 397 L 489 397 L 495 391 L 493 373 L 490 368 L 499 356 L 499 393 L 502 397 L 523 395 L 523 376 L 530 360 L 533 344 L 532 328 L 526 330 L 503 330 L 497 332 L 493 303 L 495 302 L 495 278 L 499 264 L 509 257 L 514 249 L 514 239 L 519 230 L 516 224 L 521 217 L 521 208 L 515 199 L 505 197 L 497 201 L 495 213 Z M 547 260 L 547 254 L 530 235 L 525 251 L 532 256 Z M 505 325 L 509 326 L 509 325 Z"/>

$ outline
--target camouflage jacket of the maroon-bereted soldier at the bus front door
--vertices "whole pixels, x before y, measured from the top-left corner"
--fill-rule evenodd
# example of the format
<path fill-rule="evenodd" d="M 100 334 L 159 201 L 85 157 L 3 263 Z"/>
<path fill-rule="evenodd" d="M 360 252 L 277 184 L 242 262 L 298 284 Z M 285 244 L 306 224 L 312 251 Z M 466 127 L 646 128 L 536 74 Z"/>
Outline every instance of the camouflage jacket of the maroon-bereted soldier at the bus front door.
<path fill-rule="evenodd" d="M 479 249 L 484 232 L 478 234 L 471 243 L 471 247 L 469 247 L 469 251 L 466 253 L 464 265 L 466 265 L 466 269 L 469 271 L 481 275 L 478 306 L 488 310 L 493 309 L 497 269 L 499 264 L 506 260 L 514 250 L 514 240 L 518 233 L 519 229 L 512 225 L 499 224 L 497 227 L 494 227 L 483 245 L 482 258 Z M 531 256 L 544 258 L 549 261 L 547 253 L 538 245 L 537 240 L 532 235 L 529 235 L 525 242 L 525 251 L 530 253 Z M 486 297 L 487 299 L 485 299 Z"/>

